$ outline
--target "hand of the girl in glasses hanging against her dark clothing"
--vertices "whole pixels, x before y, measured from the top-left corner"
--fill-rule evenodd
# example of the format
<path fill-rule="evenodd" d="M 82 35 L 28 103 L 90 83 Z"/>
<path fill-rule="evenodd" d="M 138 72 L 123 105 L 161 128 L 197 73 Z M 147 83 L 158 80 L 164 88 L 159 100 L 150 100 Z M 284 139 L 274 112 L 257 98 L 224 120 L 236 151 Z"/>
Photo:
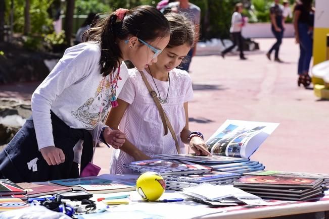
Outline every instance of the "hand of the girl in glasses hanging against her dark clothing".
<path fill-rule="evenodd" d="M 48 146 L 40 149 L 43 159 L 51 165 L 59 165 L 65 161 L 65 154 L 62 149 L 55 146 Z"/>

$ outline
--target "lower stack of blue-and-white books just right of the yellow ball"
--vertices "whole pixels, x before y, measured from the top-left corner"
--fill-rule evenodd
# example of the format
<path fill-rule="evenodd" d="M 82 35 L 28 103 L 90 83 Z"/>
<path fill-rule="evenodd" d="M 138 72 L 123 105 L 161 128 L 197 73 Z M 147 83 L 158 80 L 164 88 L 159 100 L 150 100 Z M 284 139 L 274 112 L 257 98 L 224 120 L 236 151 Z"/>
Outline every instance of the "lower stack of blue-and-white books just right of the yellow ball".
<path fill-rule="evenodd" d="M 240 177 L 239 174 L 212 171 L 204 174 L 185 176 L 165 176 L 166 189 L 182 191 L 184 188 L 209 183 L 212 185 L 228 185 Z"/>

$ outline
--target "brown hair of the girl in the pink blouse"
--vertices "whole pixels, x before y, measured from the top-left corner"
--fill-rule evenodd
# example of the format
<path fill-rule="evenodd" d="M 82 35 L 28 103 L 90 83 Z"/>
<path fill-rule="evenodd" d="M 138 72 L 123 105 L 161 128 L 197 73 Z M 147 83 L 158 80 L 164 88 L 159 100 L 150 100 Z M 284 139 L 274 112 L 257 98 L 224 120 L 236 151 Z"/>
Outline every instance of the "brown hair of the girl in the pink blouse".
<path fill-rule="evenodd" d="M 170 23 L 170 41 L 168 48 L 183 45 L 193 45 L 195 39 L 194 26 L 185 16 L 178 13 L 167 13 L 165 17 Z"/>

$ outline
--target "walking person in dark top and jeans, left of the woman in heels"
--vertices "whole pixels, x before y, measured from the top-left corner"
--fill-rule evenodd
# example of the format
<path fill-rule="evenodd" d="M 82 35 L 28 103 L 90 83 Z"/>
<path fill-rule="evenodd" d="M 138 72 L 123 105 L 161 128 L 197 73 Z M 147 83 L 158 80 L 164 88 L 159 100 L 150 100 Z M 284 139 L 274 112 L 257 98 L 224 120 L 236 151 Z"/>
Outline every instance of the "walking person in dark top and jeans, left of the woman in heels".
<path fill-rule="evenodd" d="M 283 6 L 279 5 L 279 0 L 274 0 L 274 4 L 270 8 L 271 30 L 276 38 L 276 42 L 272 45 L 270 50 L 266 53 L 266 57 L 271 60 L 271 53 L 275 50 L 274 61 L 283 63 L 278 57 L 282 38 L 284 36 L 284 17 Z"/>

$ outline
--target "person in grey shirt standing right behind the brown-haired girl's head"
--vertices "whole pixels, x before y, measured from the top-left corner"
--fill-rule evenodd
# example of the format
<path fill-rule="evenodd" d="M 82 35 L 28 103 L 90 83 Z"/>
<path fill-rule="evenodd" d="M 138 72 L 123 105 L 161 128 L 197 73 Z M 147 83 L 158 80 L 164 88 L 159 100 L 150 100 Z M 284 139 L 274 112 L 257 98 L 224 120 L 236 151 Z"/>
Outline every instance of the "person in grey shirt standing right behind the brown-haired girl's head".
<path fill-rule="evenodd" d="M 192 61 L 192 57 L 196 54 L 196 47 L 197 42 L 199 41 L 199 32 L 200 32 L 200 17 L 201 17 L 201 10 L 198 6 L 189 2 L 189 0 L 179 0 L 178 2 L 169 3 L 168 7 L 164 9 L 164 13 L 168 11 L 168 8 L 171 9 L 172 12 L 182 13 L 187 18 L 189 18 L 192 23 L 194 24 L 195 30 L 195 44 L 187 53 L 186 60 L 181 63 L 180 68 L 185 71 L 189 71 L 190 64 Z"/>

